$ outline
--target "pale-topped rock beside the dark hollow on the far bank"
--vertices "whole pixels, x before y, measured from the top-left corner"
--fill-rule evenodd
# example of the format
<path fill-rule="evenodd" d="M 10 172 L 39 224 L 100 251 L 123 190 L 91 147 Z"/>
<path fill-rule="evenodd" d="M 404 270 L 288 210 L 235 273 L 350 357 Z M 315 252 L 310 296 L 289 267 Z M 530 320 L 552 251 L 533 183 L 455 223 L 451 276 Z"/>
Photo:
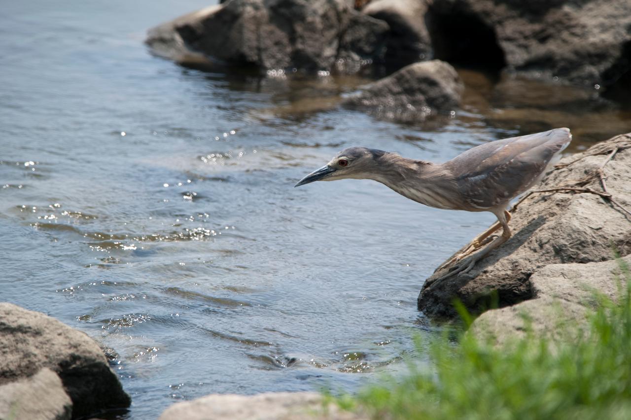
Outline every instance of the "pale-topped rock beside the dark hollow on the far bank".
<path fill-rule="evenodd" d="M 427 0 L 377 0 L 362 13 L 385 21 L 390 27 L 386 41 L 386 63 L 405 66 L 432 55 L 425 19 Z"/>

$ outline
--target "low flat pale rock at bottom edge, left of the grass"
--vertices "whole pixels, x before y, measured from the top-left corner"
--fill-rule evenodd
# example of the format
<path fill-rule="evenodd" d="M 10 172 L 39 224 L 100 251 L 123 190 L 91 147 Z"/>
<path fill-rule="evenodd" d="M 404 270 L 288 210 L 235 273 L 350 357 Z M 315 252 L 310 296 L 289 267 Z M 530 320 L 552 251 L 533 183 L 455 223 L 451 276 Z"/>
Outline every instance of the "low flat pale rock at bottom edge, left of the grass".
<path fill-rule="evenodd" d="M 324 405 L 314 392 L 269 392 L 257 395 L 212 394 L 178 402 L 160 420 L 367 420 L 359 414 Z"/>

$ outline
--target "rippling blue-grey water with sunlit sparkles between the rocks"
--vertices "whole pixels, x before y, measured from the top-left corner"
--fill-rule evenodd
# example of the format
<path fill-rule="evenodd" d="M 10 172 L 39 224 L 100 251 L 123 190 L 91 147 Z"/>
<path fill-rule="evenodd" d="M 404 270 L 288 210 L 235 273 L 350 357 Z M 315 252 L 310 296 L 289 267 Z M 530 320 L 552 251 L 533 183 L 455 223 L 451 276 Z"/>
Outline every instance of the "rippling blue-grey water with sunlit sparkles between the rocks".
<path fill-rule="evenodd" d="M 358 77 L 203 73 L 148 53 L 147 28 L 207 5 L 0 15 L 1 298 L 115 349 L 129 419 L 213 392 L 353 390 L 432 334 L 423 279 L 493 216 L 369 181 L 293 188 L 339 149 L 444 161 L 551 127 L 572 128 L 569 151 L 630 128 L 591 86 L 462 70 L 463 109 L 415 127 L 337 108 Z"/>

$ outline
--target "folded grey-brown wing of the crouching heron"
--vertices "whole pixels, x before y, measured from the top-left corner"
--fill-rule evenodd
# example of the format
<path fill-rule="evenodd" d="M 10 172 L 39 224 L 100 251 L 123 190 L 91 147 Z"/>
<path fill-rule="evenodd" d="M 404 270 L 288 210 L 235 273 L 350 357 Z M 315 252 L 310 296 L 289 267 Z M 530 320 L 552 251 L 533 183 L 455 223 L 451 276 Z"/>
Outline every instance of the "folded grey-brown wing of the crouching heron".
<path fill-rule="evenodd" d="M 481 144 L 446 162 L 465 202 L 497 207 L 528 190 L 572 140 L 567 128 Z"/>

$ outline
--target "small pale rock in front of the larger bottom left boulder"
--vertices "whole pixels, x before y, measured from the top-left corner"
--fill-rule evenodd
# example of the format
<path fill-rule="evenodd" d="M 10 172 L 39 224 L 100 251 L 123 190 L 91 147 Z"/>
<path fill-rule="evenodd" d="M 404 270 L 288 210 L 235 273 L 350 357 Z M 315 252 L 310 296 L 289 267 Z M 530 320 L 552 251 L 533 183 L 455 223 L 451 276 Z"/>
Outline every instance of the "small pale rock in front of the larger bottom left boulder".
<path fill-rule="evenodd" d="M 0 386 L 0 419 L 70 420 L 73 404 L 54 371 Z"/>

